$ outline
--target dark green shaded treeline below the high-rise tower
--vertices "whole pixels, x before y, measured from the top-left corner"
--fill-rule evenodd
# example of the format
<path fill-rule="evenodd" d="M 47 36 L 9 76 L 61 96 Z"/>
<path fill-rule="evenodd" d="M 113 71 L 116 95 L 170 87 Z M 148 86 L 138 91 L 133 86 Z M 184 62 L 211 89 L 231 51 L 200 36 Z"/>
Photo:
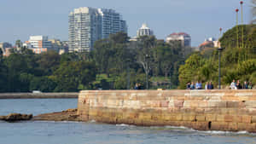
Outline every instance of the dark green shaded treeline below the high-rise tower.
<path fill-rule="evenodd" d="M 176 88 L 178 68 L 184 61 L 181 44 L 147 36 L 137 42 L 128 38 L 126 33 L 113 34 L 97 41 L 90 53 L 35 55 L 22 48 L 3 57 L 0 51 L 0 92 L 132 89 L 137 83 L 145 88 L 146 75 L 151 84 L 164 79 Z"/>

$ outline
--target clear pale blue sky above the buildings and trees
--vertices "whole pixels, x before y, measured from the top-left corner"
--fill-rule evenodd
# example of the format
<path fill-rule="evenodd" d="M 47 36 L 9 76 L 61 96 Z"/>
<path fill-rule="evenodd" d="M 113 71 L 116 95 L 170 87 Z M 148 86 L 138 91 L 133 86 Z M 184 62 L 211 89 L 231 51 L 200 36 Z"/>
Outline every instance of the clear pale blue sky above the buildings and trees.
<path fill-rule="evenodd" d="M 186 32 L 198 46 L 207 37 L 218 38 L 219 27 L 227 31 L 236 25 L 240 0 L 0 0 L 0 42 L 26 41 L 32 35 L 67 41 L 68 14 L 79 7 L 116 10 L 130 37 L 146 23 L 158 39 Z M 250 0 L 243 9 L 244 23 L 249 23 Z"/>

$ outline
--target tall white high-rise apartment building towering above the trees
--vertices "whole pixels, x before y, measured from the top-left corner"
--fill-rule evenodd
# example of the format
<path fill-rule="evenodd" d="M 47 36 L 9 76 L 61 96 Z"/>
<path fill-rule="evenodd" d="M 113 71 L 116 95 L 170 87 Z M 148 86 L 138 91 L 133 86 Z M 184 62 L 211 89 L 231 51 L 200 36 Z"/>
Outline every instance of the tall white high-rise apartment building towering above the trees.
<path fill-rule="evenodd" d="M 68 25 L 69 52 L 90 51 L 96 40 L 127 32 L 125 20 L 113 9 L 74 9 L 68 15 Z"/>

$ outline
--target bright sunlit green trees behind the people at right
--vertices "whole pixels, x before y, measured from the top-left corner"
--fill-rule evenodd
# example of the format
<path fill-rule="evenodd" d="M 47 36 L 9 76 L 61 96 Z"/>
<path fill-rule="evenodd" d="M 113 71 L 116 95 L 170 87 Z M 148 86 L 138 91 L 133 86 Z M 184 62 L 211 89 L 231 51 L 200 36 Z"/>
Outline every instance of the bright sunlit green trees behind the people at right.
<path fill-rule="evenodd" d="M 243 27 L 243 28 L 241 28 Z M 256 84 L 256 25 L 237 27 L 225 32 L 220 38 L 221 47 L 221 84 L 228 86 L 233 79 Z M 243 41 L 241 31 L 244 31 Z M 243 42 L 243 43 L 242 43 Z M 218 49 L 205 49 L 194 53 L 179 68 L 180 88 L 185 89 L 188 82 L 212 81 L 218 85 Z"/>

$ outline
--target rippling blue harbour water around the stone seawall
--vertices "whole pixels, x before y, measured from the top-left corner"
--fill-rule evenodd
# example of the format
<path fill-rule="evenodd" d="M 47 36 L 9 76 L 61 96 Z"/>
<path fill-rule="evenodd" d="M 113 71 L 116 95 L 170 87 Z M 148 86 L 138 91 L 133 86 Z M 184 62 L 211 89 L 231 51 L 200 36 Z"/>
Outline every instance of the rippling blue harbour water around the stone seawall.
<path fill-rule="evenodd" d="M 39 114 L 74 108 L 77 99 L 0 100 L 0 115 L 8 112 Z M 183 127 L 137 127 L 96 122 L 0 121 L 0 144 L 183 144 L 256 143 L 256 135 L 245 131 L 197 131 Z"/>

